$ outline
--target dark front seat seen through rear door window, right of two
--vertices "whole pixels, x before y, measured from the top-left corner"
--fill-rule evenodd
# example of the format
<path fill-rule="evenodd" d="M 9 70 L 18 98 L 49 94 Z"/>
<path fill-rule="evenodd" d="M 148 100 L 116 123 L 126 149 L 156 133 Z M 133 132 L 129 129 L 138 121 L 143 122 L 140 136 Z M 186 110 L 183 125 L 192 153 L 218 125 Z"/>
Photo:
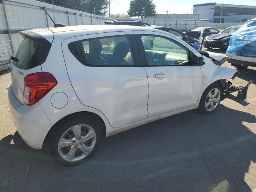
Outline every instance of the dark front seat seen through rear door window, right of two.
<path fill-rule="evenodd" d="M 124 60 L 129 52 L 129 44 L 126 42 L 119 42 L 113 51 L 113 57 L 110 59 L 110 65 L 129 65 L 129 63 Z"/>

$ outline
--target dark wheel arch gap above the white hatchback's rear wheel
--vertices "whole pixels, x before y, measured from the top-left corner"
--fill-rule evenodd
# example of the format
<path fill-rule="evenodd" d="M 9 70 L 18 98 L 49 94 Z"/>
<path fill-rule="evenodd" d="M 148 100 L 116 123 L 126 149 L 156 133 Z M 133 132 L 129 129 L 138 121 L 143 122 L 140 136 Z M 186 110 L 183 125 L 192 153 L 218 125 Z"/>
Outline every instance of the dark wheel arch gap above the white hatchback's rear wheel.
<path fill-rule="evenodd" d="M 48 138 L 49 136 L 52 134 L 52 132 L 55 130 L 56 127 L 58 127 L 58 125 L 66 120 L 67 118 L 72 118 L 73 116 L 79 116 L 79 115 L 83 115 L 83 116 L 90 116 L 96 120 L 98 120 L 102 126 L 100 126 L 101 128 L 101 132 L 102 132 L 102 138 L 106 137 L 106 124 L 104 123 L 104 120 L 96 113 L 93 112 L 89 112 L 89 111 L 80 111 L 80 112 L 75 112 L 72 114 L 68 114 L 67 116 L 61 118 L 60 120 L 58 120 L 58 122 L 56 122 L 48 131 L 48 133 L 46 134 L 46 137 L 44 138 L 44 142 L 43 142 L 43 147 L 46 146 L 46 143 L 48 142 Z"/>

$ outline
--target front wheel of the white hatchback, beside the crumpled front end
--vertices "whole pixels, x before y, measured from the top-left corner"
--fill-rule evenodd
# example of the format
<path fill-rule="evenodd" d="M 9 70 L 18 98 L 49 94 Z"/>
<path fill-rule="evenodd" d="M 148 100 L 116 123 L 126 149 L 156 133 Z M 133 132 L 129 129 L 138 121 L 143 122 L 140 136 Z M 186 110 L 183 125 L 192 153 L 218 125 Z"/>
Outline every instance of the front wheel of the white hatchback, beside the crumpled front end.
<path fill-rule="evenodd" d="M 222 89 L 217 83 L 211 84 L 202 94 L 198 111 L 202 114 L 214 112 L 221 101 Z"/>

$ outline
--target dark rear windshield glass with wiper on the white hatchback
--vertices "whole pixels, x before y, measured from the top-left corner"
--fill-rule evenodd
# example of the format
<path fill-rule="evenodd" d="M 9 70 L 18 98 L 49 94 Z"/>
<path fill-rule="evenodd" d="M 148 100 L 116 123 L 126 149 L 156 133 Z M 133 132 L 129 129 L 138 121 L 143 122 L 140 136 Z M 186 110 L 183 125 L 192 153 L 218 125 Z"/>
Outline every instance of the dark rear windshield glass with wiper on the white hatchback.
<path fill-rule="evenodd" d="M 40 50 L 41 45 L 38 42 L 25 37 L 15 55 L 19 61 L 13 61 L 13 64 L 21 69 L 30 69 L 40 65 L 38 62 Z"/>

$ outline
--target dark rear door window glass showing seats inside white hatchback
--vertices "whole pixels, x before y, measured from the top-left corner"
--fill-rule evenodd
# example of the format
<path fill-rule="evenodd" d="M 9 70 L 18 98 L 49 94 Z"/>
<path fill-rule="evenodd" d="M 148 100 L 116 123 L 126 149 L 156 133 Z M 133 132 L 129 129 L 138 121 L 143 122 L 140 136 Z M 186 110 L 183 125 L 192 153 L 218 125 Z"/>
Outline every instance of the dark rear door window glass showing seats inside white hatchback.
<path fill-rule="evenodd" d="M 89 66 L 134 66 L 134 55 L 129 36 L 110 36 L 79 41 L 81 43 L 81 62 Z M 79 59 L 79 54 L 70 51 Z M 74 46 L 74 48 L 76 48 Z"/>

